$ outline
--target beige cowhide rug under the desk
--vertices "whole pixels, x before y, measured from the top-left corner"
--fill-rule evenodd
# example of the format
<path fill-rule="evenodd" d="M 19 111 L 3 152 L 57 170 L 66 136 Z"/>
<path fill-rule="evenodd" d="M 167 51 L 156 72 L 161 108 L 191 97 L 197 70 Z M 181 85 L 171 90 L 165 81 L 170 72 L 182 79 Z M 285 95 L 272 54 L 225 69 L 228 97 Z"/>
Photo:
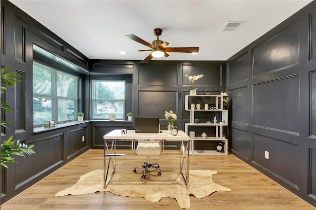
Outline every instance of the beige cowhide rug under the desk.
<path fill-rule="evenodd" d="M 72 187 L 58 192 L 55 196 L 82 195 L 87 193 L 109 191 L 115 195 L 143 197 L 150 202 L 158 202 L 163 197 L 177 200 L 183 209 L 190 208 L 190 194 L 200 199 L 215 191 L 231 191 L 216 184 L 212 175 L 216 171 L 190 170 L 189 190 L 186 189 L 179 172 L 162 172 L 161 176 L 147 173 L 146 178 L 133 172 L 117 171 L 106 189 L 103 188 L 103 170 L 96 170 L 82 175 Z"/>

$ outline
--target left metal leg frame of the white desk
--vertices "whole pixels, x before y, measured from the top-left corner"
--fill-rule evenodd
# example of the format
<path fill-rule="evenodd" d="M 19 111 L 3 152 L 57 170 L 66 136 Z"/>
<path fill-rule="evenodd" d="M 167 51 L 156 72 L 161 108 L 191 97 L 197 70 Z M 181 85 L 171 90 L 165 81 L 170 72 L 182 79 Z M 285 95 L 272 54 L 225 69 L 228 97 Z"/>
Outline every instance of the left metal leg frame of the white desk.
<path fill-rule="evenodd" d="M 114 152 L 114 154 L 113 154 L 113 152 Z M 106 156 L 109 156 L 108 167 L 106 167 L 106 165 L 107 165 Z M 103 180 L 104 180 L 103 187 L 106 188 L 106 186 L 109 184 L 112 176 L 115 174 L 115 171 L 116 171 L 116 140 L 112 140 L 111 150 L 108 147 L 107 141 L 104 140 L 103 164 L 104 164 L 103 165 Z M 113 167 L 113 172 L 108 178 L 110 166 Z"/>

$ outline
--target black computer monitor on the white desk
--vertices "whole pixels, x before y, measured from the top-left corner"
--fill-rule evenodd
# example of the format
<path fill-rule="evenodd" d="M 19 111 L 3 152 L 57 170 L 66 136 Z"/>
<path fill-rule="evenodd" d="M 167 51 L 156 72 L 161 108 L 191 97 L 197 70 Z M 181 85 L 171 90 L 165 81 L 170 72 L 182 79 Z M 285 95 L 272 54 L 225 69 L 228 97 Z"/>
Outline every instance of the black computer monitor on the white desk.
<path fill-rule="evenodd" d="M 136 133 L 159 133 L 159 117 L 135 117 Z"/>

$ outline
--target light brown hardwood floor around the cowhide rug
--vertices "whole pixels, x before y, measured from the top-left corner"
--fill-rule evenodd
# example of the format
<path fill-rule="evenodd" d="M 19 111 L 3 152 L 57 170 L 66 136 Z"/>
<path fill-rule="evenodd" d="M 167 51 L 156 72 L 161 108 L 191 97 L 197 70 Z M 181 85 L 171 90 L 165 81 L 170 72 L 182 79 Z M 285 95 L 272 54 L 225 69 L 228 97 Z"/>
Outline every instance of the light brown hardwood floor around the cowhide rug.
<path fill-rule="evenodd" d="M 132 170 L 144 162 L 144 156 L 120 156 L 117 170 Z M 179 159 L 152 157 L 160 164 L 161 171 L 178 170 Z M 130 198 L 109 192 L 78 196 L 54 195 L 76 184 L 79 177 L 90 171 L 103 169 L 103 150 L 89 150 L 42 179 L 16 198 L 1 205 L 1 210 L 179 210 L 177 201 L 162 198 L 150 203 L 144 198 Z M 214 192 L 197 199 L 191 196 L 190 210 L 314 210 L 289 191 L 257 172 L 234 155 L 192 155 L 190 169 L 217 171 L 215 183 L 229 187 L 231 192 Z"/>

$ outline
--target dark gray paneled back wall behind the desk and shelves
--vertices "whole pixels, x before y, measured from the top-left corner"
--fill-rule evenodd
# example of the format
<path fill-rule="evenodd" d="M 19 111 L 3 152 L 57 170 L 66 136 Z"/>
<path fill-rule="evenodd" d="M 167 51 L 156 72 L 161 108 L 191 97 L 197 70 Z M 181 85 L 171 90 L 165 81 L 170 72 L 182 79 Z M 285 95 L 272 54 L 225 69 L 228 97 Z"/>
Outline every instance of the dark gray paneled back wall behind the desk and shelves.
<path fill-rule="evenodd" d="M 167 130 L 164 117 L 166 110 L 173 110 L 178 120 L 174 123 L 184 130 L 184 123 L 189 122 L 189 112 L 184 110 L 184 98 L 189 94 L 191 83 L 184 74 L 203 74 L 204 78 L 196 82 L 197 94 L 205 94 L 210 88 L 212 94 L 218 95 L 225 90 L 225 62 L 223 61 L 140 61 L 91 60 L 90 78 L 102 78 L 104 75 L 132 74 L 132 107 L 134 116 L 159 117 L 161 130 Z M 88 100 L 88 99 L 87 99 Z M 128 107 L 126 107 L 128 108 Z M 202 116 L 200 117 L 202 118 Z M 103 148 L 102 137 L 114 128 L 134 127 L 131 122 L 91 122 L 91 148 Z M 165 147 L 178 148 L 179 145 L 166 142 Z M 130 148 L 123 143 L 119 148 Z"/>

